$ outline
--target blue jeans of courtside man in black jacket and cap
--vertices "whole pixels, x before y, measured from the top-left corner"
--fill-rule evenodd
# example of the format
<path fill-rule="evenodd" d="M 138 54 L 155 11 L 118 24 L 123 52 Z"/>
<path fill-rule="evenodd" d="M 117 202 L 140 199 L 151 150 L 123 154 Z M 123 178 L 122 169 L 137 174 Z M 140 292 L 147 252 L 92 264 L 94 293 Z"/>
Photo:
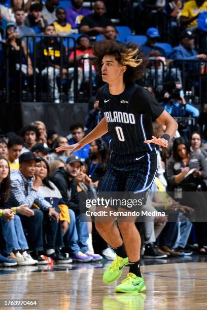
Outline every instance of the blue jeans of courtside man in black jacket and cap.
<path fill-rule="evenodd" d="M 77 215 L 71 209 L 69 209 L 69 214 L 71 222 L 65 232 L 63 240 L 65 248 L 73 256 L 79 251 L 83 253 L 88 251 L 87 239 L 89 237 L 89 228 L 86 218 L 85 221 L 83 221 L 83 217 L 86 217 L 85 214 Z"/>

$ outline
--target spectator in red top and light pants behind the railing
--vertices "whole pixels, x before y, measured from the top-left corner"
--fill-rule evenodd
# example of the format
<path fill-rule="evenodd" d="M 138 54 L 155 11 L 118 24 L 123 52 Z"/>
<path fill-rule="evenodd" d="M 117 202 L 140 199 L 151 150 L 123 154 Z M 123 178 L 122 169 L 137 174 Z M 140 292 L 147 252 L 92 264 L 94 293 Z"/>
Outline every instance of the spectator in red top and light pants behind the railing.
<path fill-rule="evenodd" d="M 90 60 L 89 58 L 93 57 L 93 50 L 90 47 L 90 41 L 87 35 L 81 35 L 77 39 L 77 49 L 76 49 L 76 60 L 78 60 L 78 80 L 79 84 L 82 82 L 80 79 L 83 79 L 84 82 L 89 82 L 89 73 L 90 73 Z M 85 59 L 86 58 L 86 59 Z M 71 53 L 69 57 L 69 63 L 74 63 L 74 52 Z M 95 67 L 92 65 L 92 83 L 94 84 L 96 71 Z M 83 76 L 84 72 L 84 76 Z M 73 90 L 70 91 L 70 98 L 73 99 Z"/>

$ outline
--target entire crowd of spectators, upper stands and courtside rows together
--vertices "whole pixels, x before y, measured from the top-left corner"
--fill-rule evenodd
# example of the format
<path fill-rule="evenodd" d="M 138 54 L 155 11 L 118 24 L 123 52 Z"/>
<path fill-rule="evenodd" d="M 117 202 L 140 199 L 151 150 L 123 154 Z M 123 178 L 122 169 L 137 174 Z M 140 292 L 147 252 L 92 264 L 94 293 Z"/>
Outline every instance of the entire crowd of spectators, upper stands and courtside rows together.
<path fill-rule="evenodd" d="M 121 3 L 125 14 L 125 18 L 120 16 L 121 25 L 129 26 L 133 34 L 146 35 L 141 49 L 150 63 L 141 83 L 179 123 L 169 149 L 157 148 L 158 172 L 150 202 L 144 208 L 149 212 L 165 211 L 166 215 L 137 223 L 142 235 L 142 255 L 163 258 L 191 255 L 193 251 L 205 255 L 207 224 L 199 216 L 206 197 L 179 195 L 182 191 L 205 192 L 207 185 L 207 102 L 203 96 L 202 107 L 195 104 L 196 97 L 202 94 L 198 92 L 198 79 L 199 83 L 201 79 L 200 71 L 196 78 L 197 65 L 191 62 L 200 61 L 198 66 L 206 74 L 203 17 L 206 22 L 207 2 L 131 0 Z M 101 85 L 96 68 L 90 64 L 92 44 L 96 39 L 120 41 L 122 33 L 111 18 L 116 15 L 113 4 L 95 1 L 91 11 L 84 7 L 83 0 L 72 0 L 67 9 L 59 6 L 58 0 L 47 0 L 45 4 L 11 0 L 11 4 L 1 1 L 0 10 L 0 53 L 9 57 L 9 87 L 16 100 L 20 96 L 20 70 L 31 93 L 34 73 L 40 76 L 38 89 L 42 89 L 45 80 L 47 99 L 54 103 L 62 101 L 63 90 L 67 102 L 74 103 L 76 86 L 80 92 L 83 84 L 88 87 L 92 83 L 96 88 Z M 159 46 L 166 38 L 160 22 L 163 16 L 167 42 L 172 46 L 170 52 Z M 39 34 L 44 37 L 34 45 L 32 35 Z M 21 40 L 24 35 L 31 36 L 29 40 L 25 37 Z M 76 39 L 76 53 L 62 40 L 62 36 L 68 35 Z M 34 54 L 36 67 L 32 62 Z M 172 60 L 177 61 L 173 67 Z M 185 92 L 181 60 L 190 61 L 185 64 L 185 70 L 194 76 L 193 88 Z M 64 89 L 60 87 L 60 78 L 66 81 Z M 96 197 L 109 160 L 109 135 L 71 157 L 66 151 L 54 151 L 55 147 L 79 142 L 102 118 L 99 102 L 93 96 L 85 124 L 70 124 L 68 136 L 47 130 L 40 121 L 25 126 L 18 135 L 12 132 L 2 135 L 0 262 L 3 265 L 46 264 L 51 261 L 49 258 L 56 263 L 114 259 L 114 252 L 99 236 L 94 223 L 83 220 L 85 214 L 80 213 L 79 199 L 80 195 L 87 197 L 89 193 Z M 154 123 L 155 136 L 160 137 L 163 130 Z M 171 192 L 175 193 L 173 197 Z"/>

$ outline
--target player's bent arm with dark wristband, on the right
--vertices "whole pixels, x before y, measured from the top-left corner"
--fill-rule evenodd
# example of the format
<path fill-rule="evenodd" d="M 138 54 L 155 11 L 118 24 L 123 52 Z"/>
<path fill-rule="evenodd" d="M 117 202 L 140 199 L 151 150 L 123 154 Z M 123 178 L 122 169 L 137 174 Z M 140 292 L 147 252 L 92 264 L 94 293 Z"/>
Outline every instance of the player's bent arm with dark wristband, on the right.
<path fill-rule="evenodd" d="M 166 127 L 164 134 L 160 138 L 156 138 L 152 136 L 152 140 L 147 140 L 145 143 L 155 143 L 161 145 L 163 147 L 168 146 L 168 141 L 174 137 L 177 129 L 178 123 L 171 117 L 171 115 L 164 110 L 159 117 L 157 118 L 157 122 L 164 125 Z"/>

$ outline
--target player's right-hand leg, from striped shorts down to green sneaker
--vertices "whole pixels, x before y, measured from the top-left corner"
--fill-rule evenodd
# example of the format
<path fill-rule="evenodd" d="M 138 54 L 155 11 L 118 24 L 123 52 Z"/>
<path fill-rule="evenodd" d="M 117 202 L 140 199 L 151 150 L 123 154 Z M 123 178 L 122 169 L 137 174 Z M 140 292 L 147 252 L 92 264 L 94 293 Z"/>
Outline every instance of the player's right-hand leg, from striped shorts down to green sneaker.
<path fill-rule="evenodd" d="M 145 204 L 156 171 L 157 153 L 154 149 L 137 162 L 136 166 L 129 169 L 125 191 L 133 192 L 137 197 L 141 195 L 141 197 L 144 197 L 143 203 Z M 141 238 L 134 221 L 135 218 L 130 217 L 128 221 L 119 221 L 118 223 L 129 258 L 129 274 L 123 283 L 116 287 L 117 292 L 142 292 L 146 289 L 140 271 Z"/>

